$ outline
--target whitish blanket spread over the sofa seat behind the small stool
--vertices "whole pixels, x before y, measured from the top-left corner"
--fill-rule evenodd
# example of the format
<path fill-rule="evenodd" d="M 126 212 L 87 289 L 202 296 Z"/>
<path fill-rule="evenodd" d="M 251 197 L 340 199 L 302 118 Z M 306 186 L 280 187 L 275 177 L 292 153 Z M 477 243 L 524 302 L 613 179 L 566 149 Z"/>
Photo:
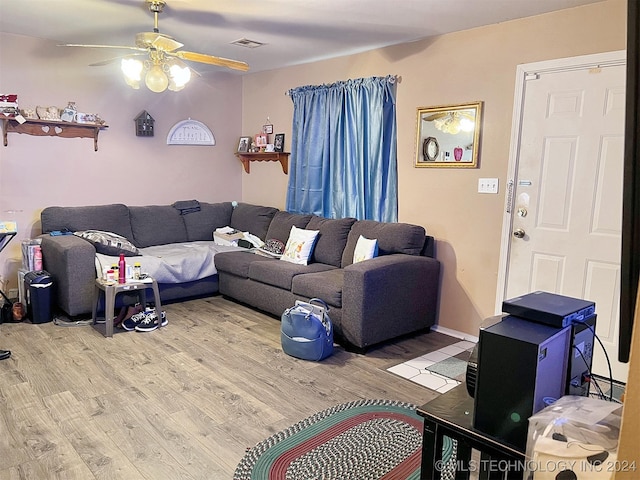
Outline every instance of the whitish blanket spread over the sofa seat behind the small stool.
<path fill-rule="evenodd" d="M 213 258 L 218 252 L 244 250 L 241 247 L 217 245 L 210 241 L 171 243 L 141 248 L 141 256 L 125 257 L 128 265 L 140 263 L 142 273 L 158 283 L 184 283 L 215 275 Z M 96 271 L 118 264 L 118 257 L 96 253 Z"/>

